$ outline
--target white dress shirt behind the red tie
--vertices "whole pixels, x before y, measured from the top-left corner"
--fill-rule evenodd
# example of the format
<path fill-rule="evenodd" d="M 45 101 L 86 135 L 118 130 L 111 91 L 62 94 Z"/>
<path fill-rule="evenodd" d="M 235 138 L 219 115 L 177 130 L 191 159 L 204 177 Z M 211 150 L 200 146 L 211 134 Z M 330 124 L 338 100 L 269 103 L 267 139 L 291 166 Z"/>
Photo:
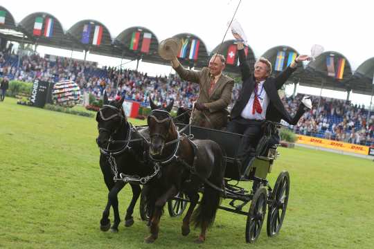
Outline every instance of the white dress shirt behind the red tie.
<path fill-rule="evenodd" d="M 241 114 L 242 118 L 251 119 L 251 120 L 265 120 L 266 109 L 267 109 L 267 106 L 269 105 L 270 100 L 264 89 L 264 82 L 265 80 L 262 80 L 260 83 L 258 83 L 258 90 L 257 90 L 257 98 L 258 98 L 258 101 L 260 101 L 260 104 L 262 107 L 262 113 L 257 113 L 257 111 L 255 111 L 255 113 L 252 114 L 254 95 L 255 95 L 255 91 L 253 89 L 251 98 L 249 98 L 248 103 L 246 104 L 246 106 L 244 107 L 242 111 L 242 114 Z"/>

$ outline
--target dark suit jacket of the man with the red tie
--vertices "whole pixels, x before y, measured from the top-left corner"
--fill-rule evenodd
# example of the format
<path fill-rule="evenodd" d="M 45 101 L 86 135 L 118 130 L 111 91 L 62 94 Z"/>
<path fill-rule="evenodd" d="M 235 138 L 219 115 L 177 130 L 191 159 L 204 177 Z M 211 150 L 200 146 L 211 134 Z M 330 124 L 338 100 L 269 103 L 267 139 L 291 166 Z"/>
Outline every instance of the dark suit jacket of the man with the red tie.
<path fill-rule="evenodd" d="M 239 60 L 240 60 L 240 70 L 242 71 L 242 90 L 238 100 L 235 102 L 233 109 L 231 110 L 231 118 L 240 118 L 240 115 L 247 105 L 249 98 L 253 92 L 255 86 L 255 79 L 253 76 L 253 68 L 249 68 L 249 65 L 245 59 L 244 49 L 238 50 Z M 281 89 L 283 84 L 287 79 L 296 71 L 296 68 L 291 68 L 288 66 L 280 75 L 277 77 L 268 77 L 264 83 L 264 89 L 267 93 L 267 96 L 270 100 L 269 105 L 266 111 L 266 120 L 271 120 L 274 122 L 280 122 L 281 119 L 292 124 L 294 119 L 286 111 L 283 106 L 281 98 L 279 98 L 278 90 Z"/>

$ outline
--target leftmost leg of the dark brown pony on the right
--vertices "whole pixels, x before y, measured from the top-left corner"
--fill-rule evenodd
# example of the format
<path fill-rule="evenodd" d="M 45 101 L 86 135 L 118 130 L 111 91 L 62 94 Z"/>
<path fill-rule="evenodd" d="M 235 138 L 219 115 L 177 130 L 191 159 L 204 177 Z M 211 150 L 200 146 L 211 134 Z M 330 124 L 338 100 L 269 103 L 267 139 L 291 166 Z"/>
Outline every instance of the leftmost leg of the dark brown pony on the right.
<path fill-rule="evenodd" d="M 170 198 L 175 196 L 178 193 L 177 188 L 172 185 L 165 194 L 161 195 L 159 199 L 157 199 L 154 205 L 154 213 L 152 215 L 151 224 L 150 224 L 150 236 L 145 238 L 145 243 L 153 243 L 159 237 L 159 223 L 162 214 L 162 208 L 166 204 Z"/>

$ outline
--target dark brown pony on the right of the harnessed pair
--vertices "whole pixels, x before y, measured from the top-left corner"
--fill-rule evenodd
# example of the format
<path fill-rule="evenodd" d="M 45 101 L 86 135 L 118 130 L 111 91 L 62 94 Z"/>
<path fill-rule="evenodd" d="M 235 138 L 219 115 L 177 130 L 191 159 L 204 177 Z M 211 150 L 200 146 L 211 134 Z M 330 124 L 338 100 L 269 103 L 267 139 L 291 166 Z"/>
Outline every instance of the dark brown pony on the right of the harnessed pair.
<path fill-rule="evenodd" d="M 220 189 L 224 176 L 224 155 L 212 140 L 193 140 L 179 135 L 167 109 L 159 110 L 150 102 L 152 112 L 148 116 L 150 132 L 150 158 L 161 166 L 159 178 L 150 182 L 145 192 L 148 210 L 151 212 L 150 236 L 145 242 L 152 243 L 159 234 L 159 221 L 165 203 L 178 192 L 190 199 L 190 206 L 183 219 L 181 234 L 190 232 L 190 221 L 199 226 L 201 232 L 197 243 L 206 239 L 206 230 L 213 224 L 220 204 Z M 209 184 L 211 183 L 211 184 Z M 213 185 L 216 187 L 213 187 Z M 199 188 L 204 186 L 199 208 L 193 210 L 199 200 Z"/>

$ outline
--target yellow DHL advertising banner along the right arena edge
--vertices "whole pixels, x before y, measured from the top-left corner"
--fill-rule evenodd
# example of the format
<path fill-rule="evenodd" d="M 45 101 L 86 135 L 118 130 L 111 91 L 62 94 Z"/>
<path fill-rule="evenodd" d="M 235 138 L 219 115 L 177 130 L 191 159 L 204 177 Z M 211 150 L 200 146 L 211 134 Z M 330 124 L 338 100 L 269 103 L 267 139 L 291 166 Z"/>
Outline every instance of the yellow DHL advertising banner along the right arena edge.
<path fill-rule="evenodd" d="M 314 138 L 311 136 L 303 136 L 296 134 L 299 138 L 296 142 L 303 145 L 313 145 L 317 147 L 323 147 L 328 149 L 338 149 L 347 152 L 353 152 L 357 154 L 368 155 L 369 147 L 364 145 L 353 145 L 348 142 L 340 142 L 335 140 L 328 140 L 324 138 Z"/>

